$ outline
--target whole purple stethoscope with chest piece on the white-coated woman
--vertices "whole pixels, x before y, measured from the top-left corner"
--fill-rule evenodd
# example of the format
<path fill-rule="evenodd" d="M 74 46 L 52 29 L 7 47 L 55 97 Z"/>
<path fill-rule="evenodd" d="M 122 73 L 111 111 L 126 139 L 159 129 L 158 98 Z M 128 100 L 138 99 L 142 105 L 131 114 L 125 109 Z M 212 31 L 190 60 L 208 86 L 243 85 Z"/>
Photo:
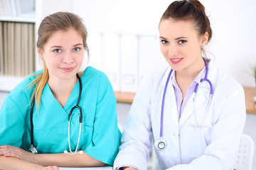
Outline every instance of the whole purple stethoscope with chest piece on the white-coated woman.
<path fill-rule="evenodd" d="M 208 107 L 207 107 L 207 112 L 206 112 L 206 114 L 207 114 L 208 110 L 209 110 L 210 102 L 211 102 L 211 99 L 212 99 L 212 96 L 213 96 L 213 85 L 210 82 L 210 80 L 208 79 L 208 70 L 209 70 L 208 69 L 208 62 L 206 61 L 205 58 L 203 58 L 203 61 L 206 64 L 206 75 L 205 75 L 205 77 L 203 79 L 200 80 L 200 82 L 202 83 L 203 81 L 206 81 L 209 84 L 209 86 L 210 86 L 210 100 L 209 100 Z M 169 79 L 171 77 L 171 73 L 172 72 L 173 72 L 173 69 L 171 69 L 171 71 L 169 72 L 169 75 L 168 75 L 167 80 L 166 80 L 166 84 L 164 86 L 164 94 L 163 94 L 162 104 L 161 104 L 161 120 L 160 120 L 160 135 L 159 135 L 160 137 L 159 137 L 158 140 L 156 140 L 154 142 L 154 146 L 158 150 L 163 150 L 164 148 L 166 148 L 166 141 L 163 138 L 164 101 L 165 101 L 165 96 L 166 96 L 166 89 L 167 89 L 167 86 L 168 86 L 168 83 L 169 83 Z M 193 94 L 194 94 L 194 97 L 193 97 L 194 112 L 196 112 L 195 103 L 196 103 L 196 94 L 197 94 L 198 86 L 199 86 L 199 84 L 196 84 L 196 87 L 195 87 L 195 89 L 193 91 Z M 204 115 L 204 117 L 203 117 L 203 119 L 201 121 L 202 125 L 203 125 L 204 120 L 206 119 L 206 114 Z M 198 120 L 196 118 L 196 113 L 194 113 L 194 118 L 195 118 L 195 121 L 196 121 L 196 128 L 202 128 L 203 126 L 199 125 L 199 123 L 198 123 Z"/>

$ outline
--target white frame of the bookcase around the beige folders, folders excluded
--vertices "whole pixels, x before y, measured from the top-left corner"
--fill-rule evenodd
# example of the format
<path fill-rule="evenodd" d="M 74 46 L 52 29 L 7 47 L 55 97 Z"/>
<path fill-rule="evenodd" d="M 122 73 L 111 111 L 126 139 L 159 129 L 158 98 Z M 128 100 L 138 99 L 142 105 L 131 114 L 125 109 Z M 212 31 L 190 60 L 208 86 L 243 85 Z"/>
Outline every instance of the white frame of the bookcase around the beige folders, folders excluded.
<path fill-rule="evenodd" d="M 11 16 L 11 15 L 1 15 L 3 11 L 0 6 L 0 21 L 4 22 L 12 22 L 12 23 L 34 23 L 34 68 L 35 71 L 41 69 L 41 62 L 39 61 L 39 57 L 36 54 L 36 40 L 37 40 L 37 30 L 38 27 L 46 16 L 50 13 L 55 13 L 57 11 L 73 11 L 73 1 L 72 0 L 2 0 L 5 1 L 18 1 L 21 5 L 21 9 L 19 9 L 18 16 Z M 1 1 L 1 2 L 2 2 Z M 12 2 L 14 3 L 14 2 Z M 61 5 L 60 5 L 61 4 Z M 1 67 L 1 63 L 0 63 Z M 26 76 L 25 76 L 26 77 Z M 9 76 L 2 74 L 0 71 L 0 91 L 11 91 L 17 86 L 25 77 L 19 76 Z"/>

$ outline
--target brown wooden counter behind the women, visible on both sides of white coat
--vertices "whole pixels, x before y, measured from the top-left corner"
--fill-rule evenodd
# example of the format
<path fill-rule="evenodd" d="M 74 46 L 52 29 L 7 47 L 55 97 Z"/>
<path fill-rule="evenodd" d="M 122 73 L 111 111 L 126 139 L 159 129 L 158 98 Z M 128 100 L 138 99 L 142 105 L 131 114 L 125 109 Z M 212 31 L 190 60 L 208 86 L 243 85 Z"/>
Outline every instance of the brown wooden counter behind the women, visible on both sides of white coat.
<path fill-rule="evenodd" d="M 254 98 L 256 96 L 256 89 L 254 87 L 243 87 L 245 90 L 245 104 L 246 104 L 246 113 L 256 114 L 256 103 Z M 117 98 L 117 102 L 121 103 L 132 103 L 135 93 L 126 93 L 115 91 L 114 95 Z"/>

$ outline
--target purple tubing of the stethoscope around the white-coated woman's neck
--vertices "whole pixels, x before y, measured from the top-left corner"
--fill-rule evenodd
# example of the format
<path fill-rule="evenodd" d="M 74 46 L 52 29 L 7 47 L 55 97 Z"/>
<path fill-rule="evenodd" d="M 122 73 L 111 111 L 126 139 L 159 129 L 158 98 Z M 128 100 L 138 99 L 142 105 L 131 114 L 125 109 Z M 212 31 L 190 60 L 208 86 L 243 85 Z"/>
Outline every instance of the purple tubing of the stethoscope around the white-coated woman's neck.
<path fill-rule="evenodd" d="M 208 62 L 206 61 L 206 59 L 203 57 L 203 61 L 205 62 L 206 64 L 206 75 L 203 79 L 201 79 L 200 82 L 203 82 L 203 81 L 207 81 L 208 84 L 210 85 L 210 96 L 213 95 L 213 84 L 210 82 L 210 80 L 208 79 Z M 164 101 L 165 101 L 165 96 L 166 96 L 166 89 L 167 89 L 167 86 L 168 86 L 168 83 L 169 83 L 169 79 L 171 77 L 171 73 L 173 72 L 173 69 L 171 69 L 171 71 L 169 72 L 169 75 L 167 77 L 167 80 L 166 80 L 166 85 L 164 86 L 164 94 L 163 94 L 163 99 L 162 99 L 162 104 L 161 104 L 161 123 L 160 123 L 160 138 L 163 137 L 163 121 L 164 121 Z M 197 89 L 198 89 L 198 85 L 199 84 L 196 84 L 196 87 L 194 89 L 194 93 L 196 93 Z"/>

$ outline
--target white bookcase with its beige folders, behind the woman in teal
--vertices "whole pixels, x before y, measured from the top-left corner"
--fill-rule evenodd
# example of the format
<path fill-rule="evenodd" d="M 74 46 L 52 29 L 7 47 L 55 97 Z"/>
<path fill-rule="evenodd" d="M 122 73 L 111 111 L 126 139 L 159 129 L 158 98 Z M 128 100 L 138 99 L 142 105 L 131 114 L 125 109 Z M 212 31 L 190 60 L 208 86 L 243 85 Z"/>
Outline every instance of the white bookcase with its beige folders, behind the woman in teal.
<path fill-rule="evenodd" d="M 43 18 L 58 11 L 72 12 L 72 1 L 0 0 L 0 91 L 11 91 L 28 74 L 42 68 L 36 54 L 37 30 Z M 21 36 L 16 38 L 13 30 Z M 18 50 L 21 54 L 17 57 Z M 28 69 L 31 62 L 32 69 Z"/>

